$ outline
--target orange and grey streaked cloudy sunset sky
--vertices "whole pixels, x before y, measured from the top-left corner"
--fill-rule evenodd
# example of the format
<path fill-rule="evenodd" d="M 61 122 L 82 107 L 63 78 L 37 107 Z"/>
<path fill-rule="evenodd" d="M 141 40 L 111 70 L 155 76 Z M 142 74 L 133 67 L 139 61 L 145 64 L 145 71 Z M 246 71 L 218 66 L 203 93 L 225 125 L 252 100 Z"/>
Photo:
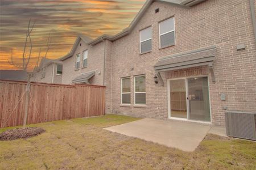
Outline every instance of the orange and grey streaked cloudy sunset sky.
<path fill-rule="evenodd" d="M 96 38 L 114 35 L 126 28 L 145 0 L 0 0 L 0 69 L 15 69 L 8 59 L 13 50 L 20 62 L 28 20 L 36 20 L 32 32 L 32 63 L 39 48 L 44 52 L 48 33 L 51 49 L 48 58 L 69 52 L 77 33 Z"/>

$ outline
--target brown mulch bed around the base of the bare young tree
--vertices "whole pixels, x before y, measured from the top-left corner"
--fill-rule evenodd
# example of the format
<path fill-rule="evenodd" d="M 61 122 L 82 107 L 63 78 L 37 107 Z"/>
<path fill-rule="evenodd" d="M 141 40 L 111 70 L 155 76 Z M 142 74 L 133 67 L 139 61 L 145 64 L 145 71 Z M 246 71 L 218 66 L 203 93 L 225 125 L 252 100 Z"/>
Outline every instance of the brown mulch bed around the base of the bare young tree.
<path fill-rule="evenodd" d="M 43 128 L 37 127 L 9 129 L 0 134 L 0 141 L 11 141 L 20 138 L 27 139 L 35 137 L 45 131 L 46 130 L 44 130 Z"/>

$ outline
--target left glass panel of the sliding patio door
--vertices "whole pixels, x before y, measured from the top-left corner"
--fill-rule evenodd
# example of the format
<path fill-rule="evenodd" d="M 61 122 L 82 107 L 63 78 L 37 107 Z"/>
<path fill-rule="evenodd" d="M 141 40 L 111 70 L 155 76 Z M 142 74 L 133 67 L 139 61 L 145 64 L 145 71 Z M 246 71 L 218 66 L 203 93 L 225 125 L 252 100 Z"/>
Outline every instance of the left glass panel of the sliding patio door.
<path fill-rule="evenodd" d="M 187 118 L 185 79 L 170 80 L 171 117 Z"/>

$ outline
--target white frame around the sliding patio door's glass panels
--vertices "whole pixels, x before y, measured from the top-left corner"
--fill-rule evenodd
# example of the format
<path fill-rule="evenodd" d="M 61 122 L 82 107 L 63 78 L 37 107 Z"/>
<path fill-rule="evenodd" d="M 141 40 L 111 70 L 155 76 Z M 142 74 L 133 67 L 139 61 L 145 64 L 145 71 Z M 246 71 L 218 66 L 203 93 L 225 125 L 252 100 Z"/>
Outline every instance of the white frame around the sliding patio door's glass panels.
<path fill-rule="evenodd" d="M 209 91 L 209 77 L 208 77 L 208 75 L 185 76 L 185 77 L 182 77 L 182 78 L 167 79 L 167 99 L 168 99 L 168 104 L 167 104 L 167 105 L 168 105 L 168 118 L 169 118 L 169 119 L 172 119 L 172 120 L 189 121 L 189 122 L 199 122 L 199 123 L 204 123 L 204 124 L 212 124 L 212 109 L 211 109 L 211 108 L 210 108 L 210 122 L 207 122 L 207 121 L 189 120 L 188 78 L 200 78 L 200 77 L 207 77 L 207 79 L 208 79 L 208 93 L 209 93 L 209 107 L 210 107 L 210 91 Z M 171 80 L 180 80 L 180 79 L 185 79 L 187 118 L 171 117 L 170 81 L 171 81 Z"/>

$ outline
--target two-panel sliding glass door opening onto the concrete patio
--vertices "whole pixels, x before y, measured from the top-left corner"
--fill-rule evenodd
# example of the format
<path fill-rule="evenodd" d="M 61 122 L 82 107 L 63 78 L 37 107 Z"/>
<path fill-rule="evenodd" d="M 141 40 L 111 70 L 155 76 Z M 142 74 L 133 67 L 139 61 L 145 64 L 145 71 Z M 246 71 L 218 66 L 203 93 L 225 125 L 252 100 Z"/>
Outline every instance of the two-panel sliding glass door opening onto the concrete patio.
<path fill-rule="evenodd" d="M 168 92 L 171 118 L 210 122 L 207 77 L 169 80 Z"/>

